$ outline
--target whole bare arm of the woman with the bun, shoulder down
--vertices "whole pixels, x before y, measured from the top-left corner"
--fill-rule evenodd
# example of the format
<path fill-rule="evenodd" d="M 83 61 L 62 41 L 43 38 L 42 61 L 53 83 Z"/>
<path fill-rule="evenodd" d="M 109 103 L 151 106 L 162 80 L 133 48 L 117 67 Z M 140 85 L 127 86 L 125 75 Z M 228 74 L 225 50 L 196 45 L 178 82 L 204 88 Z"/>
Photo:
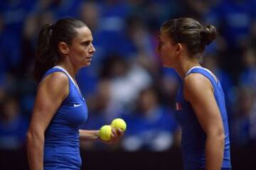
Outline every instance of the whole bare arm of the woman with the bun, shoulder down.
<path fill-rule="evenodd" d="M 223 162 L 225 132 L 213 86 L 203 75 L 189 74 L 184 79 L 183 91 L 206 132 L 206 170 L 219 170 Z"/>

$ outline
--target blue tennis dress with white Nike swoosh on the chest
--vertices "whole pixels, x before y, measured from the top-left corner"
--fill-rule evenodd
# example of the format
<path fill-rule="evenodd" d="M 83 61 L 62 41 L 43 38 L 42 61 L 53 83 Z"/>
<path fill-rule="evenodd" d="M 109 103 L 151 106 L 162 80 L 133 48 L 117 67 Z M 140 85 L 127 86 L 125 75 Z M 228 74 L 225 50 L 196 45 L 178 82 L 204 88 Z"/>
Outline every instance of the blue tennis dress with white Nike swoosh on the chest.
<path fill-rule="evenodd" d="M 62 67 L 55 66 L 49 69 L 44 77 L 53 72 L 63 72 L 68 76 L 69 94 L 61 103 L 45 132 L 43 168 L 44 170 L 80 169 L 82 161 L 79 127 L 87 120 L 87 106 L 68 72 Z"/>

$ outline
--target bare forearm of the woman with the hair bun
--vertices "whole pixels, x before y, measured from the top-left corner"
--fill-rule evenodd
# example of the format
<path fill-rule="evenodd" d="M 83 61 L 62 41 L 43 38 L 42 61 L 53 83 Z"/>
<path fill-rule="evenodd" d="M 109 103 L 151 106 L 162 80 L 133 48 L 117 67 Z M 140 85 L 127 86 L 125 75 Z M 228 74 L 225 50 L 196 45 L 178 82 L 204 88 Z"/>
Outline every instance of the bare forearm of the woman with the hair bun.
<path fill-rule="evenodd" d="M 206 170 L 220 170 L 223 162 L 223 135 L 208 135 L 206 139 Z"/>

